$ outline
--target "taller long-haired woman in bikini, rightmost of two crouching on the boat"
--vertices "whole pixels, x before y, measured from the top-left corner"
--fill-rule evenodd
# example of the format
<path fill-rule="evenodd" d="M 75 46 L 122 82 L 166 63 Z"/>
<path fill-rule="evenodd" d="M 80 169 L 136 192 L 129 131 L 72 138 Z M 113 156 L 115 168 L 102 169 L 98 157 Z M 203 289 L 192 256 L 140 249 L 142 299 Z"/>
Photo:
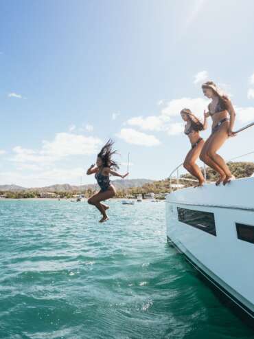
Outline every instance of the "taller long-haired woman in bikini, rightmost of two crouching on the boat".
<path fill-rule="evenodd" d="M 225 185 L 235 177 L 229 171 L 226 162 L 216 152 L 229 137 L 235 135 L 232 131 L 235 122 L 235 110 L 229 98 L 224 96 L 212 81 L 204 83 L 202 89 L 204 95 L 211 99 L 206 116 L 211 116 L 213 124 L 211 135 L 205 142 L 200 154 L 200 160 L 203 160 L 205 164 L 219 173 L 220 178 L 216 185 L 218 186 L 221 182 Z"/>

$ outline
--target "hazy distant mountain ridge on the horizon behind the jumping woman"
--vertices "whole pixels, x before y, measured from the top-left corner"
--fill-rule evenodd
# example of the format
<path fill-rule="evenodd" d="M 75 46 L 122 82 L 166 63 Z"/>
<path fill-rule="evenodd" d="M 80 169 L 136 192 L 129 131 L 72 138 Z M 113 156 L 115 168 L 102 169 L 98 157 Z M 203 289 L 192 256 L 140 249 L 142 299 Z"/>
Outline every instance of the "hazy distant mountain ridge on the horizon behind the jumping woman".
<path fill-rule="evenodd" d="M 150 179 L 117 179 L 112 181 L 115 188 L 118 190 L 130 187 L 141 187 L 143 184 L 151 184 L 154 180 Z M 21 186 L 16 185 L 0 185 L 1 191 L 10 191 L 10 192 L 17 192 L 20 190 L 23 191 L 38 191 L 38 192 L 78 192 L 80 190 L 87 190 L 88 188 L 97 189 L 97 184 L 87 184 L 82 186 L 74 186 L 69 184 L 56 184 L 51 186 L 45 187 L 33 187 L 33 188 L 24 188 Z"/>

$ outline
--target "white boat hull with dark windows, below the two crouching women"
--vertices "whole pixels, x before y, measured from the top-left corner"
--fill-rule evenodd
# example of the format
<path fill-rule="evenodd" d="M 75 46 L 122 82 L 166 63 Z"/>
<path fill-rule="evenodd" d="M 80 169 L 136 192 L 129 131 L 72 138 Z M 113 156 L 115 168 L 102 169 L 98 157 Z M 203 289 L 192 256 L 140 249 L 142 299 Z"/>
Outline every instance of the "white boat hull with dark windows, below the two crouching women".
<path fill-rule="evenodd" d="M 168 241 L 252 320 L 253 197 L 250 177 L 227 186 L 184 188 L 166 199 Z"/>

